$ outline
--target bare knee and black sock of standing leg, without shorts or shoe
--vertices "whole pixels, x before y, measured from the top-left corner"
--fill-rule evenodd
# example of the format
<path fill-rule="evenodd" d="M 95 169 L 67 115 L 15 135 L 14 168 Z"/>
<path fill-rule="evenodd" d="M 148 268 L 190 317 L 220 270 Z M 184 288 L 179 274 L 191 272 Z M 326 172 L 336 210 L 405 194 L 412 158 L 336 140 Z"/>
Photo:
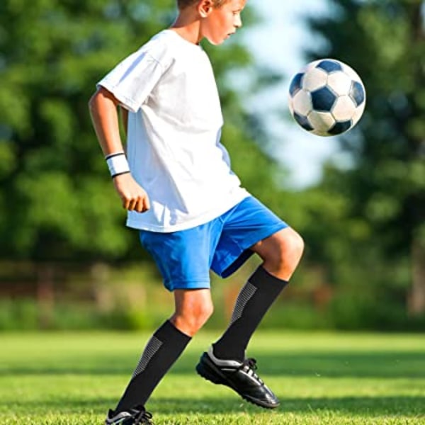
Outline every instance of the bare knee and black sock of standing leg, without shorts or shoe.
<path fill-rule="evenodd" d="M 176 310 L 147 343 L 123 397 L 113 414 L 142 407 L 191 337 L 212 313 L 209 289 L 175 290 Z M 113 423 L 113 422 L 112 422 Z"/>

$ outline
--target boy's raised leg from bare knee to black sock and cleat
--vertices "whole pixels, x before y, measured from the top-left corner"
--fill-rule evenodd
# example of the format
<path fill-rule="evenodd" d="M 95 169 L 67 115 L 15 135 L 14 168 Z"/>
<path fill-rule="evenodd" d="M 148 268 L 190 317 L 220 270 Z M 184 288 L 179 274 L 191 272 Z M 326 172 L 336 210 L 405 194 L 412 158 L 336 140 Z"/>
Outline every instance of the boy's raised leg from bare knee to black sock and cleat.
<path fill-rule="evenodd" d="M 246 346 L 264 314 L 288 284 L 303 246 L 301 237 L 290 227 L 251 246 L 263 264 L 239 293 L 225 334 L 208 353 L 203 353 L 196 368 L 203 378 L 227 385 L 261 407 L 278 407 L 279 401 L 256 375 L 254 359 L 245 359 Z"/>

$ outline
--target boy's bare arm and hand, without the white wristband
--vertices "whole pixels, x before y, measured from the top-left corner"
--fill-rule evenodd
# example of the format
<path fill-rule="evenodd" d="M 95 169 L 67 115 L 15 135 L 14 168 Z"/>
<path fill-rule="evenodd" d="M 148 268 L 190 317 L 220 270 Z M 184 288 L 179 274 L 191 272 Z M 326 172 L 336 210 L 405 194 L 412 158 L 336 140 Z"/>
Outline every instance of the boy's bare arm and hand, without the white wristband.
<path fill-rule="evenodd" d="M 103 87 L 100 87 L 89 101 L 91 120 L 105 156 L 124 152 L 118 125 L 118 104 L 115 96 Z M 126 210 L 137 212 L 149 210 L 147 193 L 130 173 L 113 177 L 113 183 Z"/>

